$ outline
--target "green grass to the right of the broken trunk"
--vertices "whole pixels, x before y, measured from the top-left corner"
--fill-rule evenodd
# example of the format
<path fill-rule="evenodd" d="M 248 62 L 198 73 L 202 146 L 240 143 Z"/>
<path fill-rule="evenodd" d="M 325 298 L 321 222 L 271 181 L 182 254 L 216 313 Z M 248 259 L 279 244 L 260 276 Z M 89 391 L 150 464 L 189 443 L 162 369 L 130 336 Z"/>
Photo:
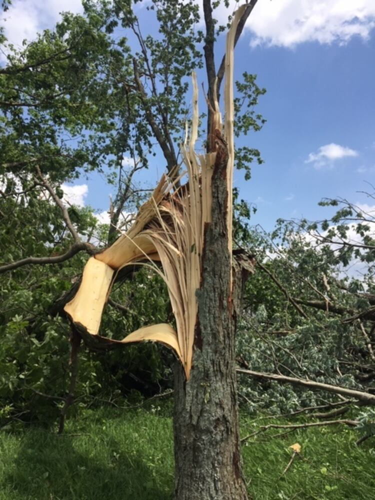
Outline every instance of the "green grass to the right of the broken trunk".
<path fill-rule="evenodd" d="M 270 420 L 256 421 L 256 426 L 267 423 Z M 243 427 L 250 432 L 254 429 L 249 422 L 243 422 Z M 358 432 L 342 425 L 298 429 L 272 438 L 272 433 L 280 432 L 282 429 L 267 430 L 242 445 L 248 490 L 255 500 L 375 498 L 375 438 L 357 446 Z M 301 445 L 301 453 L 282 475 L 292 455 L 289 446 L 294 443 Z"/>

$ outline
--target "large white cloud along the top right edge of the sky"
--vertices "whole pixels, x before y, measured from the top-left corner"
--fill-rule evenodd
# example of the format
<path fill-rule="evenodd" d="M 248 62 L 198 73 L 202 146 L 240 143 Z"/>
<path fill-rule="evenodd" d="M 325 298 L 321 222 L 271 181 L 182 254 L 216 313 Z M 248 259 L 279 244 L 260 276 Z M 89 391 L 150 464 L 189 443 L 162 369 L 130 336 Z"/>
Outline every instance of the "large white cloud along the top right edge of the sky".
<path fill-rule="evenodd" d="M 375 27 L 374 0 L 260 0 L 246 23 L 259 44 L 293 47 L 305 41 L 366 40 Z"/>

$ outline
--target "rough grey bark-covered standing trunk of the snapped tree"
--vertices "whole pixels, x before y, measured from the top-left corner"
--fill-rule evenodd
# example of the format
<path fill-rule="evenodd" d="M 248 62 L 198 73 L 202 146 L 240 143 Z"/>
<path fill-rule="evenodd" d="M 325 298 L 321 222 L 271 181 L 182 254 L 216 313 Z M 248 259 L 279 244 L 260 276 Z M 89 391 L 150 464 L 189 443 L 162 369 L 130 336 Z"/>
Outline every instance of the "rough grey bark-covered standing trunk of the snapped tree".
<path fill-rule="evenodd" d="M 206 225 L 197 291 L 194 354 L 186 381 L 176 363 L 174 457 L 176 500 L 245 500 L 234 364 L 235 304 L 226 211 L 227 148 L 217 140 L 212 222 Z M 235 298 L 235 297 L 234 297 Z"/>

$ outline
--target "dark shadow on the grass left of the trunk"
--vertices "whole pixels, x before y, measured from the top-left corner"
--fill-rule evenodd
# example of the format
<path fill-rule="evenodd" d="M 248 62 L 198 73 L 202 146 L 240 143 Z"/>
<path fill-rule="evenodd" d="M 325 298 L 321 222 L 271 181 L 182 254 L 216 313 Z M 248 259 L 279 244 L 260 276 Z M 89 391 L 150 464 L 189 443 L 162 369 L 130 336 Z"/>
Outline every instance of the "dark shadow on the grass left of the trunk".
<path fill-rule="evenodd" d="M 170 477 L 147 466 L 139 450 L 128 453 L 109 433 L 51 434 L 26 432 L 13 464 L 3 477 L 11 498 L 28 500 L 168 500 Z"/>

